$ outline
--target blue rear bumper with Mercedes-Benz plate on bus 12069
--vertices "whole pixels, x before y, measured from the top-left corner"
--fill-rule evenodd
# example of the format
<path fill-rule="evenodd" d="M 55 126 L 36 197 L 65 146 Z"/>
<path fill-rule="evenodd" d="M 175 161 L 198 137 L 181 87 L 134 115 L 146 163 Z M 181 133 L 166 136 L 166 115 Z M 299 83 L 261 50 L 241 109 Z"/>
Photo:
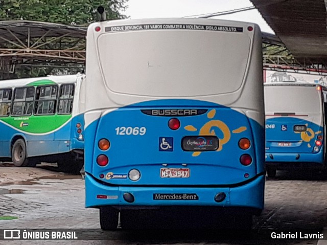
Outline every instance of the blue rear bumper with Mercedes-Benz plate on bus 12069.
<path fill-rule="evenodd" d="M 85 177 L 86 208 L 99 206 L 217 206 L 217 207 L 247 207 L 262 210 L 264 207 L 265 176 L 259 175 L 253 181 L 238 187 L 119 187 L 107 186 L 97 182 L 89 174 Z M 128 203 L 123 198 L 124 193 L 131 193 L 135 201 Z M 224 192 L 226 198 L 217 203 L 214 197 Z M 197 200 L 162 200 L 154 199 L 154 194 L 196 194 Z M 97 195 L 105 195 L 99 199 Z"/>

